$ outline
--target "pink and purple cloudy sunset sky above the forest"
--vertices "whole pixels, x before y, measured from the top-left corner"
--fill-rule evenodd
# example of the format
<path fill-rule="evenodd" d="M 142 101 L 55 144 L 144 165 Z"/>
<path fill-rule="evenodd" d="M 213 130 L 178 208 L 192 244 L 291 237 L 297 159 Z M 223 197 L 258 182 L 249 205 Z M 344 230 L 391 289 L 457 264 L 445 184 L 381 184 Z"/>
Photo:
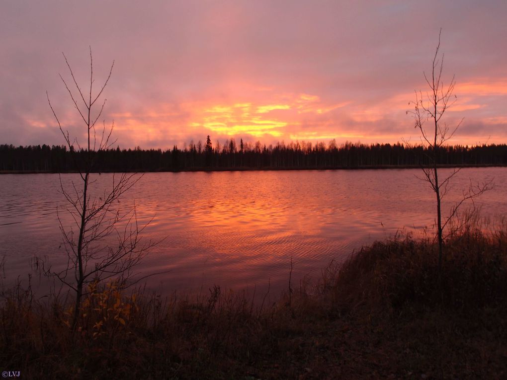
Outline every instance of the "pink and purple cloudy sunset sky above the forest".
<path fill-rule="evenodd" d="M 83 143 L 59 75 L 96 93 L 115 145 L 419 143 L 407 111 L 441 34 L 449 143 L 507 142 L 507 2 L 2 0 L 0 143 Z M 441 59 L 441 56 L 439 56 Z M 77 93 L 75 92 L 75 95 Z M 80 105 L 81 103 L 79 103 Z M 100 104 L 92 108 L 97 115 Z"/>

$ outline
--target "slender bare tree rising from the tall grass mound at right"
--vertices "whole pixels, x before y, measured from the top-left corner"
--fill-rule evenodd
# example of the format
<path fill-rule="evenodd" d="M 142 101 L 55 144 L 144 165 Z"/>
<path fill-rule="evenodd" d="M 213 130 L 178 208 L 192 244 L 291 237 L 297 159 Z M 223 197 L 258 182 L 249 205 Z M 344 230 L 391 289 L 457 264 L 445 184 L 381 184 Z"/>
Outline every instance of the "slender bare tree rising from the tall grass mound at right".
<path fill-rule="evenodd" d="M 449 216 L 442 222 L 442 200 L 449 191 L 450 180 L 461 170 L 455 168 L 451 174 L 445 178 L 439 178 L 439 151 L 440 147 L 444 145 L 455 134 L 463 119 L 461 119 L 454 126 L 449 126 L 442 120 L 445 111 L 456 101 L 454 94 L 454 87 L 456 85 L 455 76 L 452 76 L 448 85 L 444 84 L 442 72 L 444 68 L 444 54 L 439 58 L 440 53 L 440 37 L 442 29 L 439 32 L 439 43 L 435 54 L 433 56 L 431 74 L 426 75 L 424 72 L 424 79 L 429 87 L 429 91 L 424 94 L 422 91 L 415 91 L 415 101 L 409 104 L 414 105 L 414 110 L 407 111 L 414 117 L 414 127 L 419 129 L 421 133 L 421 143 L 428 151 L 428 165 L 423 167 L 423 179 L 427 181 L 437 200 L 437 239 L 439 244 L 439 270 L 442 268 L 442 255 L 444 236 L 443 231 L 448 223 L 456 216 L 459 207 L 467 200 L 473 200 L 475 197 L 481 195 L 492 187 L 492 181 L 483 184 L 473 185 L 470 181 L 470 186 L 466 191 L 463 191 L 461 200 L 456 203 L 449 213 Z M 426 126 L 428 122 L 429 126 Z"/>

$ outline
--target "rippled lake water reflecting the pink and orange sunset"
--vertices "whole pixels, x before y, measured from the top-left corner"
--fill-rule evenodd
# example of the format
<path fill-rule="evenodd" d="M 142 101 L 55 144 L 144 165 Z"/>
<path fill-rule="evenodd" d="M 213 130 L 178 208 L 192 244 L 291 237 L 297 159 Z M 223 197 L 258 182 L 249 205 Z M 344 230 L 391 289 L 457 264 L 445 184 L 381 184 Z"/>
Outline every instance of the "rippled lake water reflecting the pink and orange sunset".
<path fill-rule="evenodd" d="M 449 173 L 442 170 L 442 173 Z M 139 266 L 148 286 L 168 294 L 213 284 L 233 289 L 286 288 L 293 279 L 318 278 L 332 259 L 396 231 L 420 232 L 434 221 L 434 196 L 420 170 L 147 173 L 123 197 L 135 201 L 139 222 L 152 222 L 147 239 L 160 241 Z M 111 183 L 95 176 L 93 186 Z M 476 201 L 484 216 L 507 212 L 507 169 L 463 169 L 444 208 L 459 199 L 470 178 L 494 178 L 495 188 Z M 67 188 L 79 182 L 62 174 Z M 65 262 L 56 206 L 65 205 L 58 174 L 0 176 L 0 258 L 4 282 L 26 278 L 30 258 Z M 97 193 L 98 194 L 98 193 Z M 70 223 L 63 216 L 64 224 Z M 60 248 L 59 248 L 60 247 Z M 40 285 L 44 286 L 44 285 Z"/>

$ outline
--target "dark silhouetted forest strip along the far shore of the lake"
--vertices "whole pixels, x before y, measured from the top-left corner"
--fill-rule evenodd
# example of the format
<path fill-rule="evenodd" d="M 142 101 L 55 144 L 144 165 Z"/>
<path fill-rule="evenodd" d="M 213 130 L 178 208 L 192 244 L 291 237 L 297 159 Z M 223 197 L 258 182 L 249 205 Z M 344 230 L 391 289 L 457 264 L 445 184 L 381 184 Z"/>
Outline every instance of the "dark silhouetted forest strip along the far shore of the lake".
<path fill-rule="evenodd" d="M 428 163 L 428 150 L 404 144 L 283 142 L 276 145 L 243 143 L 234 139 L 214 145 L 191 142 L 172 149 L 108 149 L 94 153 L 92 171 L 186 171 L 234 169 L 339 169 L 419 167 Z M 0 145 L 0 171 L 73 172 L 84 162 L 85 151 L 64 145 Z M 507 165 L 507 145 L 445 146 L 439 149 L 443 166 Z"/>

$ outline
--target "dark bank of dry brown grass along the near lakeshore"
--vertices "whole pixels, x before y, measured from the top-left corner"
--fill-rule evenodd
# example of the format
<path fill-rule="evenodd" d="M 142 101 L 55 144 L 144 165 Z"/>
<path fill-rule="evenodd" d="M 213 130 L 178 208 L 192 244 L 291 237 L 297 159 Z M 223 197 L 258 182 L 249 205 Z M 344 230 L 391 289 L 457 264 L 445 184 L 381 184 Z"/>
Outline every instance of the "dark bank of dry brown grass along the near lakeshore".
<path fill-rule="evenodd" d="M 428 240 L 393 239 L 314 284 L 252 303 L 216 287 L 162 299 L 97 286 L 78 331 L 61 297 L 19 287 L 0 310 L 0 370 L 22 378 L 505 378 L 507 229 L 465 229 L 441 272 Z"/>

